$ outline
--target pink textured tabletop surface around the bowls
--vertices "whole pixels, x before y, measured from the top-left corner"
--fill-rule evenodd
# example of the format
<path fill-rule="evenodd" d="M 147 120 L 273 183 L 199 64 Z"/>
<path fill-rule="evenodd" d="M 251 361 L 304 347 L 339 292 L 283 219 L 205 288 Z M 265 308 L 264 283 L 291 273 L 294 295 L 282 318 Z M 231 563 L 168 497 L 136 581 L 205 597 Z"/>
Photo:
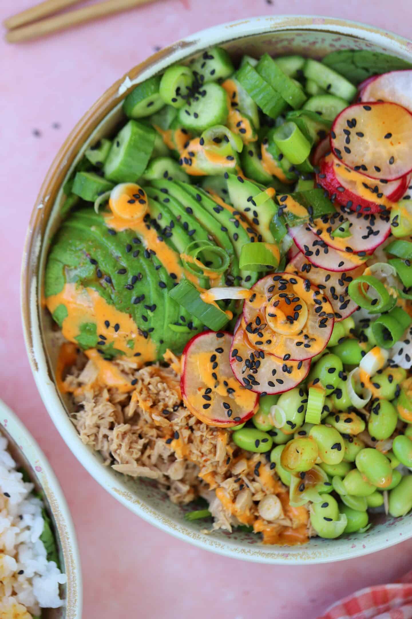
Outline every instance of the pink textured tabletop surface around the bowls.
<path fill-rule="evenodd" d="M 32 4 L 1 0 L 0 19 Z M 339 597 L 393 582 L 412 567 L 412 540 L 337 565 L 293 568 L 242 563 L 169 537 L 120 506 L 78 464 L 49 420 L 25 353 L 19 279 L 27 223 L 49 164 L 80 116 L 156 46 L 221 22 L 285 10 L 356 19 L 410 36 L 410 0 L 288 0 L 286 6 L 280 0 L 164 0 L 45 40 L 0 43 L 0 396 L 38 439 L 69 501 L 88 619 L 314 619 Z"/>

